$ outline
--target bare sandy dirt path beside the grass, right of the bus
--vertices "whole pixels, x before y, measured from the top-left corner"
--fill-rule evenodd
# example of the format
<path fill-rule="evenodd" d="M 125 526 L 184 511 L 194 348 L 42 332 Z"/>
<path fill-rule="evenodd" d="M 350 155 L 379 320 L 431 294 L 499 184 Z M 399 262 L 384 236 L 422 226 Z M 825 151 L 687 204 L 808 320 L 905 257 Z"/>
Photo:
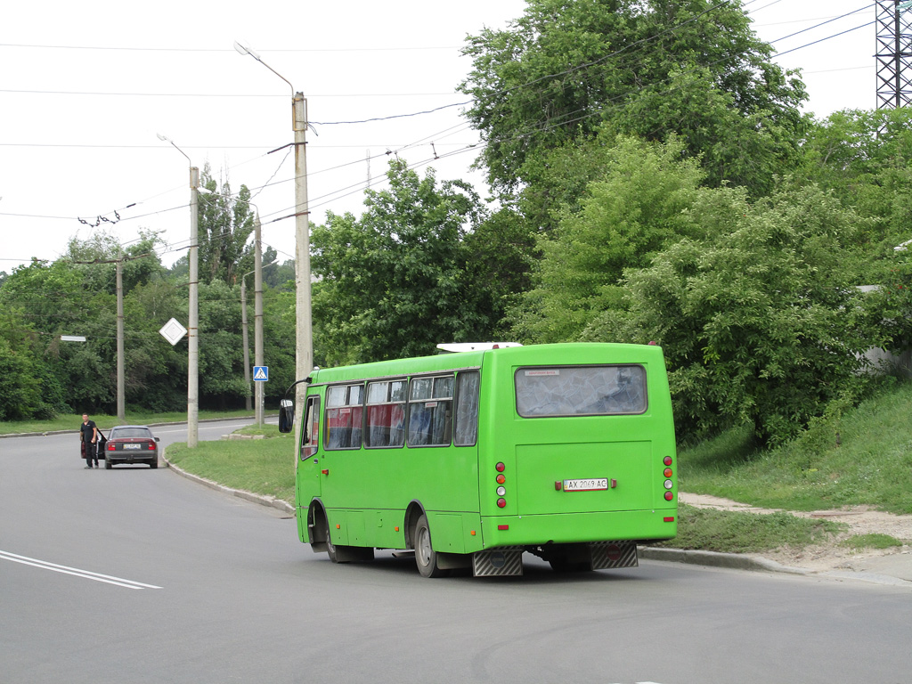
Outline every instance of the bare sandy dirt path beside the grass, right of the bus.
<path fill-rule="evenodd" d="M 721 499 L 708 494 L 688 494 L 681 492 L 679 502 L 696 508 L 714 508 L 720 511 L 741 511 L 744 513 L 775 513 L 776 509 L 755 508 L 745 503 Z M 836 511 L 790 511 L 802 518 L 825 518 L 838 523 L 845 523 L 848 529 L 835 536 L 828 544 L 814 544 L 800 549 L 780 549 L 766 552 L 762 556 L 782 565 L 803 567 L 808 570 L 855 570 L 854 564 L 867 558 L 890 554 L 912 554 L 912 515 L 894 515 L 875 511 L 870 506 L 851 506 Z M 855 534 L 889 534 L 905 544 L 888 549 L 862 549 L 855 551 L 840 545 L 845 539 Z"/>

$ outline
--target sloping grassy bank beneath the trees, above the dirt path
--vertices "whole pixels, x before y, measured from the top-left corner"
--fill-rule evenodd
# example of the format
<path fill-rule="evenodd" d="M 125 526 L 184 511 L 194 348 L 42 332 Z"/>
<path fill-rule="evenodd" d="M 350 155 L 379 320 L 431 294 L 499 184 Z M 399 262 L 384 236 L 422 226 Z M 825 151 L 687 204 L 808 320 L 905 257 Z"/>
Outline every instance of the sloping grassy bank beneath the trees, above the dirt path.
<path fill-rule="evenodd" d="M 797 440 L 756 450 L 735 429 L 679 452 L 684 492 L 793 511 L 868 504 L 912 513 L 912 383 L 886 387 Z"/>

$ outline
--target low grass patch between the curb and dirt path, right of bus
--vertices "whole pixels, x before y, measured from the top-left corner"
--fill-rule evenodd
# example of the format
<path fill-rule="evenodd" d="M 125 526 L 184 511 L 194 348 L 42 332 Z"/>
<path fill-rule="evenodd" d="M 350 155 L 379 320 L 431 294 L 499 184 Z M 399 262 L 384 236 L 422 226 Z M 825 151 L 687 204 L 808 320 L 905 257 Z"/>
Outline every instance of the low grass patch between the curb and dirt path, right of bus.
<path fill-rule="evenodd" d="M 678 536 L 658 544 L 728 554 L 756 554 L 782 546 L 807 546 L 827 541 L 845 525 L 806 520 L 790 513 L 731 513 L 679 506 Z"/>

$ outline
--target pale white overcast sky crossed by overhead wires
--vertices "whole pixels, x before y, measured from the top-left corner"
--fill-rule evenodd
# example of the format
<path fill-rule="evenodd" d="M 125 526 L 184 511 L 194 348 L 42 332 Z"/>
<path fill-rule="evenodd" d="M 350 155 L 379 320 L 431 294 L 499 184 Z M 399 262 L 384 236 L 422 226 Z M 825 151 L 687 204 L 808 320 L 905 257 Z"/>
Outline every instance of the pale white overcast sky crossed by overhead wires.
<path fill-rule="evenodd" d="M 802 69 L 806 111 L 822 119 L 876 107 L 874 3 L 743 4 L 757 35 L 781 53 L 773 61 Z M 507 26 L 525 6 L 6 3 L 0 271 L 33 257 L 55 260 L 70 239 L 98 232 L 125 245 L 140 231 L 160 233 L 161 261 L 173 264 L 189 244 L 191 163 L 209 164 L 233 192 L 250 188 L 264 244 L 279 261 L 294 258 L 295 221 L 286 218 L 295 206 L 294 152 L 285 147 L 294 139 L 292 88 L 235 51 L 234 41 L 307 98 L 311 223 L 325 223 L 327 211 L 360 215 L 365 187 L 385 187 L 393 154 L 421 175 L 433 168 L 439 181 L 472 181 L 486 197 L 482 173 L 470 169 L 479 136 L 461 117 L 467 98 L 456 91 L 472 67 L 460 48 L 484 26 Z"/>

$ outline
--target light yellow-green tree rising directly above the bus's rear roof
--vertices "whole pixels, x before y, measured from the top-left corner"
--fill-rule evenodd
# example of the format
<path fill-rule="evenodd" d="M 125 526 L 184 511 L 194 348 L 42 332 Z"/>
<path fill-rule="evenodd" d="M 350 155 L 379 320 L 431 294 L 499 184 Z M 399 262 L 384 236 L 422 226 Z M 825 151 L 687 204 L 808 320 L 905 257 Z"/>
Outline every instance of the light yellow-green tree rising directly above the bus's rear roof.
<path fill-rule="evenodd" d="M 577 340 L 606 309 L 623 306 L 624 269 L 648 265 L 683 237 L 700 237 L 704 229 L 690 210 L 704 174 L 683 151 L 677 140 L 625 137 L 604 149 L 604 175 L 555 212 L 557 227 L 540 236 L 534 287 L 511 314 L 519 338 Z"/>

